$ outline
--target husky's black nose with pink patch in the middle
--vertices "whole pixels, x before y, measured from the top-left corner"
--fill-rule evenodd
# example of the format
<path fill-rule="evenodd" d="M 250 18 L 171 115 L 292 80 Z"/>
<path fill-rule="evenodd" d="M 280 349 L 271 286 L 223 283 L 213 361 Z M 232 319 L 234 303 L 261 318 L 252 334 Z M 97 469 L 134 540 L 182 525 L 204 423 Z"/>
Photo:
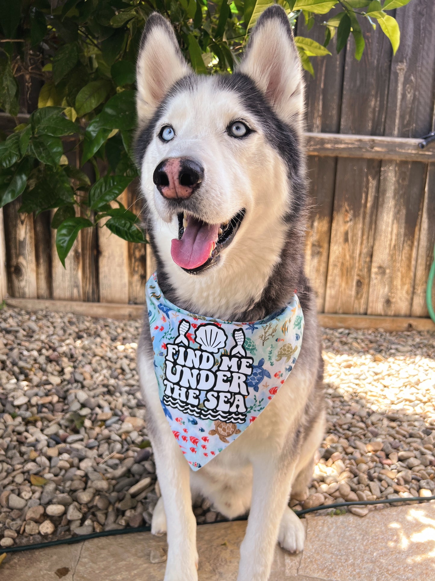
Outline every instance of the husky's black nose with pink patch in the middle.
<path fill-rule="evenodd" d="M 164 198 L 190 198 L 204 180 L 204 168 L 194 159 L 170 157 L 154 170 L 153 181 Z"/>

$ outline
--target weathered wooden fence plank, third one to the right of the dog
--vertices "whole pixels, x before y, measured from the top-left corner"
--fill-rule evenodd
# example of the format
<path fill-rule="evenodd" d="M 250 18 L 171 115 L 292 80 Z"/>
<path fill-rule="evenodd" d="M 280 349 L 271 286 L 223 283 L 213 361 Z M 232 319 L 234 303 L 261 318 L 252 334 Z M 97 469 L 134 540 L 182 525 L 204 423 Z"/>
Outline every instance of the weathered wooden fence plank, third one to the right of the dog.
<path fill-rule="evenodd" d="M 385 131 L 416 137 L 432 125 L 435 3 L 411 2 L 398 19 L 411 24 L 391 62 Z M 423 163 L 382 162 L 368 314 L 411 314 L 426 172 Z"/>

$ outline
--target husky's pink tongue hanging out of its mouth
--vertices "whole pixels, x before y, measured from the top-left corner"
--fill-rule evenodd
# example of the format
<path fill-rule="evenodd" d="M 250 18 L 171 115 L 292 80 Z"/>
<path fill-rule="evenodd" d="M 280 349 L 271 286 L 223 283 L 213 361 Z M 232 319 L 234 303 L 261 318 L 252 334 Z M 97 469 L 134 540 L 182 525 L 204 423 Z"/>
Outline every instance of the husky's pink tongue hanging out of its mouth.
<path fill-rule="evenodd" d="M 198 268 L 204 264 L 218 240 L 220 224 L 205 224 L 189 217 L 183 238 L 174 238 L 171 246 L 172 260 L 182 268 Z"/>

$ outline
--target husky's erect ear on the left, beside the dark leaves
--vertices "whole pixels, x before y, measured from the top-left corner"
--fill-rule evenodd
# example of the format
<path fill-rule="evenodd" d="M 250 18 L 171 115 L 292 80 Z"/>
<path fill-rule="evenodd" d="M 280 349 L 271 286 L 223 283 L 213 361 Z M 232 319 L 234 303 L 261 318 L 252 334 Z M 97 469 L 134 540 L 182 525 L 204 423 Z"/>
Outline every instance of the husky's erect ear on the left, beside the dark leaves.
<path fill-rule="evenodd" d="M 137 59 L 137 117 L 146 123 L 176 81 L 191 73 L 171 24 L 157 12 L 148 17 Z"/>

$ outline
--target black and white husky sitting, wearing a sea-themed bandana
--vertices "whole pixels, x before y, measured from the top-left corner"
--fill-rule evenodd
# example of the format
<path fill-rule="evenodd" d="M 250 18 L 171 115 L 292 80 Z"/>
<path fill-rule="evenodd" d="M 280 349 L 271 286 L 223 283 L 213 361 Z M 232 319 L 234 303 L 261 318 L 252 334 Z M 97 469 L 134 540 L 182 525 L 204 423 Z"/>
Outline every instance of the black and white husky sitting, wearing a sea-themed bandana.
<path fill-rule="evenodd" d="M 316 302 L 304 274 L 304 88 L 287 15 L 268 8 L 234 74 L 197 76 L 164 17 L 147 21 L 137 62 L 137 160 L 165 297 L 191 313 L 256 321 L 296 291 L 302 349 L 247 431 L 193 472 L 162 409 L 146 315 L 138 349 L 162 496 L 151 532 L 168 534 L 165 581 L 198 579 L 192 498 L 227 518 L 249 510 L 238 581 L 269 578 L 277 540 L 302 551 L 303 500 L 324 432 Z"/>

